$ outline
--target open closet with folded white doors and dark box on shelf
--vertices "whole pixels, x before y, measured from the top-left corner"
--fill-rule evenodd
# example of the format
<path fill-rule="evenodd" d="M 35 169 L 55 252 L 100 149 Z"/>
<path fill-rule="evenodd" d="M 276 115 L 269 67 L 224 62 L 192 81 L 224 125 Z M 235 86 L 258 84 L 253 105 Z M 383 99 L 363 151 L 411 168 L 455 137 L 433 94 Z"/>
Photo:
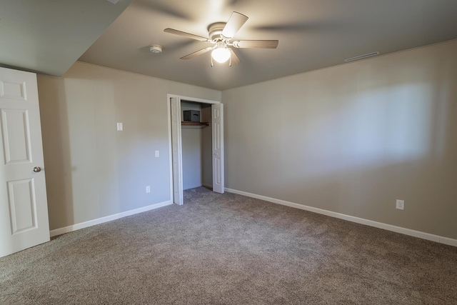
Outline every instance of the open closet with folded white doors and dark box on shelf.
<path fill-rule="evenodd" d="M 224 105 L 169 94 L 170 188 L 175 204 L 183 191 L 205 186 L 224 193 Z"/>

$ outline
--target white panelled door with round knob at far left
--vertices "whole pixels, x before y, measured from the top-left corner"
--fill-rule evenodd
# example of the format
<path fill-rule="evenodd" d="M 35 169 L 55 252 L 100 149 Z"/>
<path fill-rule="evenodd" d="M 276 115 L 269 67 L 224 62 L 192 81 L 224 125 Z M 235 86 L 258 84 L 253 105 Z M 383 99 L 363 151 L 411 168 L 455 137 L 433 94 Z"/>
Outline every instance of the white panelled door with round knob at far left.
<path fill-rule="evenodd" d="M 36 74 L 0 68 L 0 256 L 49 241 Z"/>

